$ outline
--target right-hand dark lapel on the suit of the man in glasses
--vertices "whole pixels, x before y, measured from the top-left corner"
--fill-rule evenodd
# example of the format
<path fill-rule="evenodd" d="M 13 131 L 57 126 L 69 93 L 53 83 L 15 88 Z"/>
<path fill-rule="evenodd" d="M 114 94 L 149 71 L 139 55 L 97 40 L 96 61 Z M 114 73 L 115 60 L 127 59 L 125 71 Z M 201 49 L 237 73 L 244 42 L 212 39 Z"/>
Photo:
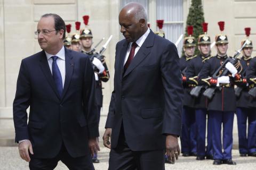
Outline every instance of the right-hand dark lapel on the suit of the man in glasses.
<path fill-rule="evenodd" d="M 65 96 L 70 80 L 72 78 L 73 70 L 74 70 L 74 61 L 73 61 L 73 56 L 70 54 L 70 51 L 65 48 L 65 67 L 66 67 L 66 77 L 65 77 L 65 83 L 64 83 L 64 88 L 62 92 L 62 99 Z"/>

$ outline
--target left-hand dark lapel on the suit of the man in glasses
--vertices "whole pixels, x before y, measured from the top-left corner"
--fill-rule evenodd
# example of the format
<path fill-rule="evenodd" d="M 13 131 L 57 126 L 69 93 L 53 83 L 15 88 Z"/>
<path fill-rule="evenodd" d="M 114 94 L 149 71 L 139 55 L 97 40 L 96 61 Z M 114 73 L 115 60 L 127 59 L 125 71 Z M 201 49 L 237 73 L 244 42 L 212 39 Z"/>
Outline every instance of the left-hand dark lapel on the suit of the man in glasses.
<path fill-rule="evenodd" d="M 50 70 L 50 67 L 49 67 L 49 64 L 48 64 L 48 61 L 47 61 L 47 57 L 46 57 L 45 52 L 43 50 L 41 52 L 40 67 L 41 67 L 41 70 L 42 70 L 46 80 L 49 82 L 53 91 L 55 92 L 55 94 L 60 99 L 60 95 L 57 91 L 57 87 L 56 87 L 55 82 L 53 80 L 52 73 L 51 73 L 51 70 Z"/>

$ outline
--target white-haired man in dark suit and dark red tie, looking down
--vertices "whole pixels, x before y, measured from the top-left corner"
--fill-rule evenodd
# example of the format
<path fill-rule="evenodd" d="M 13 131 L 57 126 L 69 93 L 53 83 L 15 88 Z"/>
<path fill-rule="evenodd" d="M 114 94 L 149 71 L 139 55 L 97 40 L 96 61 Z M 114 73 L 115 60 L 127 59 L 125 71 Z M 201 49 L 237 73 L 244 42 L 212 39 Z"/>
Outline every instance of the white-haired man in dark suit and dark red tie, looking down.
<path fill-rule="evenodd" d="M 119 24 L 125 39 L 116 45 L 103 135 L 111 148 L 109 169 L 164 169 L 165 151 L 173 163 L 180 154 L 183 89 L 177 48 L 148 28 L 141 4 L 125 5 Z"/>

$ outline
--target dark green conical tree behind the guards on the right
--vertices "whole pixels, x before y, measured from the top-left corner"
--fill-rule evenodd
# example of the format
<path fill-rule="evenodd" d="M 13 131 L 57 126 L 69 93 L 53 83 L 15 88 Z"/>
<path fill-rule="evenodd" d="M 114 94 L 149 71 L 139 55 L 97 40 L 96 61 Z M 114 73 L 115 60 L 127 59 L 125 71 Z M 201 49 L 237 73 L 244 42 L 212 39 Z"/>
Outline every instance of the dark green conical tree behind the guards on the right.
<path fill-rule="evenodd" d="M 193 36 L 196 38 L 203 33 L 202 23 L 204 22 L 204 12 L 202 6 L 202 0 L 192 0 L 191 6 L 189 7 L 189 13 L 187 17 L 187 23 L 185 27 L 185 37 L 188 36 L 187 26 L 193 25 L 194 32 Z M 199 54 L 199 50 L 196 47 L 195 55 Z"/>

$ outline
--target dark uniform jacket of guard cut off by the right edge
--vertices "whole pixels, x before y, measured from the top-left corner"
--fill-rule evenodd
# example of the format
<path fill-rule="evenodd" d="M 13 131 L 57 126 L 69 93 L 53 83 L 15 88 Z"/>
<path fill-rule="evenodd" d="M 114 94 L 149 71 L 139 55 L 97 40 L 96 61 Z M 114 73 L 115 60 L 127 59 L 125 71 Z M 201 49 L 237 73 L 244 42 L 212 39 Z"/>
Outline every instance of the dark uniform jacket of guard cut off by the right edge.
<path fill-rule="evenodd" d="M 252 58 L 246 71 L 246 79 L 250 87 L 256 86 L 256 57 Z M 250 107 L 256 107 L 256 98 L 250 96 Z"/>

